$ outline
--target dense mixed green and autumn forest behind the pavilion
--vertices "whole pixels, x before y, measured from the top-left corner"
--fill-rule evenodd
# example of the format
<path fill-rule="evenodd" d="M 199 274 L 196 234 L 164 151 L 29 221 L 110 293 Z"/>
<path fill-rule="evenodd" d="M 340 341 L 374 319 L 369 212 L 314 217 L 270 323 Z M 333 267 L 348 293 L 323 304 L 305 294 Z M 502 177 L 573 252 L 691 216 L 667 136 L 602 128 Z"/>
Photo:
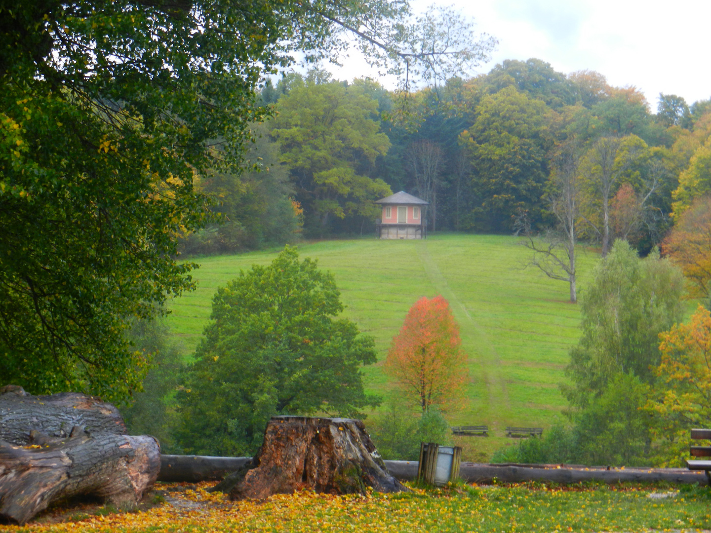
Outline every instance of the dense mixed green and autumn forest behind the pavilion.
<path fill-rule="evenodd" d="M 429 201 L 430 231 L 512 232 L 523 219 L 541 230 L 555 224 L 567 156 L 581 180 L 579 237 L 646 253 L 675 210 L 711 190 L 711 100 L 660 95 L 653 113 L 634 87 L 538 59 L 409 95 L 313 70 L 267 82 L 259 98 L 274 116 L 255 128 L 249 171 L 203 178 L 228 223 L 189 237 L 187 252 L 281 244 L 302 229 L 368 233 L 374 201 L 397 190 Z"/>

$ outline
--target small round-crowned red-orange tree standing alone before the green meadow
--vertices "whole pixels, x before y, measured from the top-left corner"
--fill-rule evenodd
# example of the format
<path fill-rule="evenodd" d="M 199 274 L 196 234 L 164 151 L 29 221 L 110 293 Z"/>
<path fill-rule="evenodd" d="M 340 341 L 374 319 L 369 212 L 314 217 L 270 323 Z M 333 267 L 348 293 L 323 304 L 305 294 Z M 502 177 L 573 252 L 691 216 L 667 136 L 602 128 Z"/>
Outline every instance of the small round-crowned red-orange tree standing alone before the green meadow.
<path fill-rule="evenodd" d="M 385 372 L 422 412 L 456 403 L 468 377 L 459 326 L 442 296 L 419 298 L 392 339 Z"/>

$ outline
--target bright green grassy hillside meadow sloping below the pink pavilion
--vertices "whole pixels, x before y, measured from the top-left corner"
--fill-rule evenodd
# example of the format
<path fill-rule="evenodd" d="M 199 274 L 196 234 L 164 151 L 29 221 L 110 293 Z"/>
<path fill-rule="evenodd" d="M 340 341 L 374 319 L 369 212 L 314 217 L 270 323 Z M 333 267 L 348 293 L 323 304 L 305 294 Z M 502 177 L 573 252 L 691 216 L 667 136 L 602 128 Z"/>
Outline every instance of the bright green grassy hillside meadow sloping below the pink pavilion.
<path fill-rule="evenodd" d="M 488 456 L 510 443 L 506 426 L 547 428 L 560 419 L 565 400 L 567 351 L 579 335 L 579 308 L 567 301 L 568 286 L 533 268 L 523 269 L 530 252 L 515 237 L 435 235 L 426 240 L 353 239 L 301 244 L 301 257 L 319 259 L 333 272 L 345 315 L 373 335 L 378 364 L 365 367 L 367 387 L 390 394 L 382 365 L 392 336 L 421 296 L 442 294 L 459 323 L 469 354 L 468 402 L 447 414 L 451 425 L 488 424 L 491 438 L 458 438 L 465 457 Z M 169 325 L 193 352 L 210 315 L 218 286 L 267 264 L 279 250 L 198 259 L 198 290 L 171 303 Z M 584 291 L 599 255 L 579 254 L 579 287 Z"/>

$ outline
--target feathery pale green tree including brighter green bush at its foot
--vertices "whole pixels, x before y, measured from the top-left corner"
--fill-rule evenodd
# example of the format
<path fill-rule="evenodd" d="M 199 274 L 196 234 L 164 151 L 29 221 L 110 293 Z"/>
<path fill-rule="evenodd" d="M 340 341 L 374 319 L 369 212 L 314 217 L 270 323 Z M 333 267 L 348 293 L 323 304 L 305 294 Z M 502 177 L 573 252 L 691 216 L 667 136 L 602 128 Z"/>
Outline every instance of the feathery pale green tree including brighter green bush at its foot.
<path fill-rule="evenodd" d="M 653 252 L 617 240 L 582 298 L 582 335 L 563 387 L 579 453 L 589 463 L 648 464 L 651 420 L 641 410 L 659 364 L 659 333 L 682 316 L 683 276 Z"/>

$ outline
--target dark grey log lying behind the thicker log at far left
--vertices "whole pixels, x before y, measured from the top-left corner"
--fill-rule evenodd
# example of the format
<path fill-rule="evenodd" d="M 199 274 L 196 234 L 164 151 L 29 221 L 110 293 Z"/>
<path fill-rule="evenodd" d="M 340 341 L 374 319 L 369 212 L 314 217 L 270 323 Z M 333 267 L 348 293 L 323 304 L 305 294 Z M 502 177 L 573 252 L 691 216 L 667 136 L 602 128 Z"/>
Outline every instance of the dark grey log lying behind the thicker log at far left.
<path fill-rule="evenodd" d="M 18 385 L 0 387 L 0 440 L 24 445 L 30 431 L 68 436 L 74 426 L 94 433 L 126 434 L 124 419 L 112 404 L 95 396 L 60 392 L 32 396 Z"/>

